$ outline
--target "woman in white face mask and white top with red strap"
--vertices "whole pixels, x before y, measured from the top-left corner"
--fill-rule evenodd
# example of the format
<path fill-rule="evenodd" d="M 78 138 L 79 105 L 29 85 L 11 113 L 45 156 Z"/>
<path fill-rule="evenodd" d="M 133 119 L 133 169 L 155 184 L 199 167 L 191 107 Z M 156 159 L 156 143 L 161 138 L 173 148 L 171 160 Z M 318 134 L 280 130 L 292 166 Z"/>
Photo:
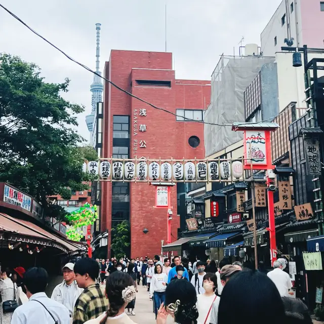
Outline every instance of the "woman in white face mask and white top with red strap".
<path fill-rule="evenodd" d="M 197 309 L 198 309 L 198 324 L 209 324 L 212 312 L 212 306 L 217 296 L 215 291 L 217 288 L 217 277 L 213 273 L 204 275 L 203 288 L 204 294 L 197 296 Z"/>

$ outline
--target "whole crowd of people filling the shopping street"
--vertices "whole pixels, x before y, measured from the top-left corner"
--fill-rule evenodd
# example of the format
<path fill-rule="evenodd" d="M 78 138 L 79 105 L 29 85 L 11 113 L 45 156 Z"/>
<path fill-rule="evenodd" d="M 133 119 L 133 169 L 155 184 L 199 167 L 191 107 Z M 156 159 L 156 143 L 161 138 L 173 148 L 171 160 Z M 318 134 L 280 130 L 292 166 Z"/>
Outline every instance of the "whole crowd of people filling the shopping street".
<path fill-rule="evenodd" d="M 255 271 L 249 262 L 230 264 L 228 259 L 218 265 L 199 258 L 191 264 L 178 256 L 172 263 L 157 255 L 82 258 L 64 265 L 63 282 L 51 298 L 45 294 L 45 269 L 5 268 L 0 271 L 0 324 L 132 324 L 141 281 L 157 324 L 310 324 L 307 306 L 291 298 L 286 265 L 278 259 L 267 272 L 262 264 Z"/>

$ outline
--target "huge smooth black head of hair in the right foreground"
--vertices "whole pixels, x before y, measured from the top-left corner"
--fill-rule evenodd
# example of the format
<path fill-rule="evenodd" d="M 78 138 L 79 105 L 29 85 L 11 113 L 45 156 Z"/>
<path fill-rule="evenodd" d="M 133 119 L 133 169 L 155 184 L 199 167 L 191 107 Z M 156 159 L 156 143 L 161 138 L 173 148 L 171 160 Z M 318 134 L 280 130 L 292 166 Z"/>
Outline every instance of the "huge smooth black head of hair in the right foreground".
<path fill-rule="evenodd" d="M 237 271 L 222 291 L 218 324 L 236 322 L 249 324 L 285 322 L 284 304 L 276 286 L 269 277 L 259 271 Z"/>

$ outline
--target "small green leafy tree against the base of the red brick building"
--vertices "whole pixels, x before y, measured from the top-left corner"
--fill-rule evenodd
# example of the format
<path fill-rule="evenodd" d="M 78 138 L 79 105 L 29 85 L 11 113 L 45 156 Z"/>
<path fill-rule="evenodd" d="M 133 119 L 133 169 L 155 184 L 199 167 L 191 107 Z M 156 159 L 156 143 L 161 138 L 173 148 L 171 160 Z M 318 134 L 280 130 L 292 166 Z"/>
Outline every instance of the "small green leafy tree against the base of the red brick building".
<path fill-rule="evenodd" d="M 130 226 L 127 221 L 119 223 L 115 228 L 111 229 L 112 241 L 111 249 L 115 258 L 119 260 L 129 253 L 130 243 Z"/>

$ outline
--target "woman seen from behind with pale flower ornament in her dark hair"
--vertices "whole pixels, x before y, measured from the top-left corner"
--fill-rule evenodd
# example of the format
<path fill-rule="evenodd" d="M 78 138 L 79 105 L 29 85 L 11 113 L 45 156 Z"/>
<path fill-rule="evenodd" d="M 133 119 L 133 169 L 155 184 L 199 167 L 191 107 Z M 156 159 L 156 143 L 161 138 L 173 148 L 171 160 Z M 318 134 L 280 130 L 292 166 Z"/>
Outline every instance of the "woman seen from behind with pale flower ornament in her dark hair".
<path fill-rule="evenodd" d="M 110 274 L 106 280 L 108 310 L 85 324 L 136 324 L 125 313 L 127 305 L 135 299 L 134 285 L 134 280 L 128 273 L 115 271 Z"/>

